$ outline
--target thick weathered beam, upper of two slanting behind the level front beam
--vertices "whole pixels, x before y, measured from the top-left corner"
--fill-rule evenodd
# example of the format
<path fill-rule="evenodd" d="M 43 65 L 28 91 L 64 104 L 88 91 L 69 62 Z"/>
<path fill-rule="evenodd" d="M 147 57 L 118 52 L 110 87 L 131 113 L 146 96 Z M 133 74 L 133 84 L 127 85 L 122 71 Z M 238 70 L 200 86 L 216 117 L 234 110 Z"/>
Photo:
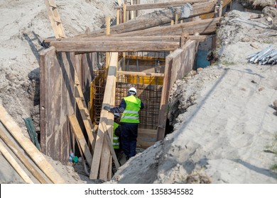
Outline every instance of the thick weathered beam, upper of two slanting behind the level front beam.
<path fill-rule="evenodd" d="M 121 34 L 127 32 L 133 32 L 136 30 L 145 30 L 147 28 L 153 28 L 159 25 L 165 25 L 170 23 L 171 20 L 175 19 L 175 14 L 178 13 L 178 20 L 184 18 L 190 18 L 194 16 L 200 16 L 205 13 L 214 13 L 214 6 L 217 4 L 217 0 L 208 1 L 202 4 L 192 5 L 192 10 L 188 14 L 182 14 L 181 8 L 168 8 L 164 11 L 157 13 L 148 13 L 134 20 L 127 21 L 126 23 L 121 23 L 119 25 L 113 25 L 110 28 L 110 34 Z M 100 30 L 94 30 L 91 33 L 85 33 L 82 35 L 77 35 L 77 37 L 99 37 L 106 35 L 106 28 Z"/>

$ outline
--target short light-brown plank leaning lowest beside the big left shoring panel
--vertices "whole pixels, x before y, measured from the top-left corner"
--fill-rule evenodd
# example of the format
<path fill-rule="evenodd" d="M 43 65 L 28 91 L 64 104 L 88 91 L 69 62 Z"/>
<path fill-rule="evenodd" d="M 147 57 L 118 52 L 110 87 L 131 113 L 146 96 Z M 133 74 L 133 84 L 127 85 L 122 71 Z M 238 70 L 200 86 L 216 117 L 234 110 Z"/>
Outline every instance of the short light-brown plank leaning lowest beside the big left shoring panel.
<path fill-rule="evenodd" d="M 92 153 L 90 153 L 89 151 L 89 146 L 87 146 L 87 141 L 85 140 L 84 134 L 82 134 L 82 129 L 78 123 L 75 114 L 70 115 L 68 119 L 70 121 L 73 132 L 77 138 L 77 141 L 79 142 L 82 148 L 82 152 L 85 154 L 87 163 L 89 164 L 89 167 L 92 167 Z"/>

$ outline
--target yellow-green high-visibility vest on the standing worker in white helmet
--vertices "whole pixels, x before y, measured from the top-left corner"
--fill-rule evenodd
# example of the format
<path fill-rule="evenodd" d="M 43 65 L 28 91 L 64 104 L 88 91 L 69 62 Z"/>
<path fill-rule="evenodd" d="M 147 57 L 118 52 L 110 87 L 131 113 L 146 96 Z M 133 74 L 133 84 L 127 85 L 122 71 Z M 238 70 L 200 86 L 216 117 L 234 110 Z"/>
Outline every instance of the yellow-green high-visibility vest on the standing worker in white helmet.
<path fill-rule="evenodd" d="M 141 100 L 134 95 L 124 97 L 126 108 L 121 116 L 120 122 L 139 123 L 139 110 L 141 110 Z"/>

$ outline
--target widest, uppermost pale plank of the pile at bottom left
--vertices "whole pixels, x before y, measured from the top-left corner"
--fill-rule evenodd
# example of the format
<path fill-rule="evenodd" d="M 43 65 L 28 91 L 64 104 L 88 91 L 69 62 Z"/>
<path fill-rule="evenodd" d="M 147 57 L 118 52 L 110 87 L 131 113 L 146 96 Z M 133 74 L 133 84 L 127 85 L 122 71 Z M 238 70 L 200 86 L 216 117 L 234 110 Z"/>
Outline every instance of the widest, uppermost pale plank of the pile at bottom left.
<path fill-rule="evenodd" d="M 18 127 L 12 117 L 6 112 L 4 107 L 0 105 L 0 121 L 4 124 L 6 129 L 13 135 L 14 139 L 22 146 L 33 161 L 38 165 L 40 170 L 55 184 L 65 184 L 65 180 L 58 174 L 53 166 L 44 158 L 38 151 L 38 148 L 33 145 L 32 141 L 23 135 L 21 128 Z"/>

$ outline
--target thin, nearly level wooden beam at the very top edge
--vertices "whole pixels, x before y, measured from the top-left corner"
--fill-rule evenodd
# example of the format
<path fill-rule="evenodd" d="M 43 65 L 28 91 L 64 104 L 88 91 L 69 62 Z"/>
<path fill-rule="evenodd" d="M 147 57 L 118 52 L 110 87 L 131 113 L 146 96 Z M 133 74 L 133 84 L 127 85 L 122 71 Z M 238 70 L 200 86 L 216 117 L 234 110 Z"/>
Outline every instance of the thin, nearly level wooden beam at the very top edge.
<path fill-rule="evenodd" d="M 162 2 L 162 3 L 152 3 L 152 4 L 134 4 L 127 5 L 126 11 L 139 11 L 139 10 L 147 10 L 147 9 L 156 9 L 156 8 L 167 8 L 173 6 L 183 6 L 188 3 L 203 3 L 206 0 L 183 0 L 183 1 L 170 1 L 170 2 Z M 115 9 L 122 9 L 123 6 L 115 6 Z"/>

